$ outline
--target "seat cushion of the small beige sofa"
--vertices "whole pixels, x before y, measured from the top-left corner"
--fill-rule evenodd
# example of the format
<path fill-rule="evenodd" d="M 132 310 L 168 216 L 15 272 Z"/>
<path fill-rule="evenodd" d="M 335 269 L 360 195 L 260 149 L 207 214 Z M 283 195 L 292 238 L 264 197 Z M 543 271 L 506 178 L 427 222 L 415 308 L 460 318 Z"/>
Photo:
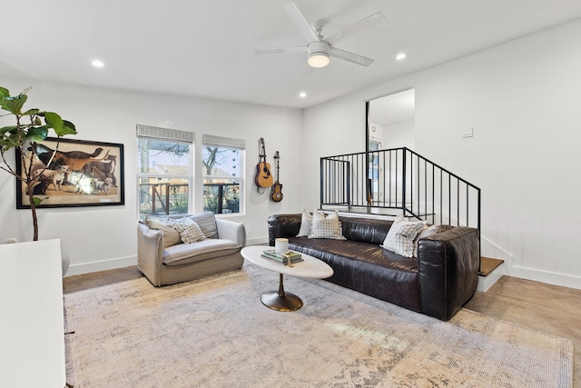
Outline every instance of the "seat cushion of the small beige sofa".
<path fill-rule="evenodd" d="M 165 265 L 182 265 L 202 262 L 216 257 L 237 254 L 242 246 L 231 240 L 209 238 L 193 244 L 177 244 L 163 250 Z"/>

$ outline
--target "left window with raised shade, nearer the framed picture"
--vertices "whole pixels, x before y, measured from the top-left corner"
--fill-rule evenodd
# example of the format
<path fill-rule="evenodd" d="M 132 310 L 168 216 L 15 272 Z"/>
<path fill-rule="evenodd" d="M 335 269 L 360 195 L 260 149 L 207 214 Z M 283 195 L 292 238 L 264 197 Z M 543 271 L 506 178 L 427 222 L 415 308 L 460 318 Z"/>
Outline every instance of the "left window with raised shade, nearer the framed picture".
<path fill-rule="evenodd" d="M 194 134 L 137 125 L 139 217 L 188 214 Z"/>

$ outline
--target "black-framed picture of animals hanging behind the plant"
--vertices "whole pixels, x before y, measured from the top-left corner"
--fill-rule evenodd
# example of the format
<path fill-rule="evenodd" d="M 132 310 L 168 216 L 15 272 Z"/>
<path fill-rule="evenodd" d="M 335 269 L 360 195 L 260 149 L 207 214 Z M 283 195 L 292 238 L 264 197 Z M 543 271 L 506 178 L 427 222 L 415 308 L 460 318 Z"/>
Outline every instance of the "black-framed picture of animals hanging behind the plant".
<path fill-rule="evenodd" d="M 28 166 L 15 154 L 16 173 L 22 176 Z M 36 154 L 33 169 L 43 179 L 34 196 L 44 198 L 36 208 L 125 204 L 123 144 L 47 137 L 36 143 Z M 16 208 L 30 209 L 22 181 L 16 182 Z"/>

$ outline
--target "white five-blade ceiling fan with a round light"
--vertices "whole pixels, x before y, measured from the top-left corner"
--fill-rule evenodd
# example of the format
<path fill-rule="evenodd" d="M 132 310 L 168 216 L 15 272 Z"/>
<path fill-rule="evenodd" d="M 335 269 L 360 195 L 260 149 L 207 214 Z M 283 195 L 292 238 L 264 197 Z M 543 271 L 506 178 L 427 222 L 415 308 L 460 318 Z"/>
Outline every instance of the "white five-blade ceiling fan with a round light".
<path fill-rule="evenodd" d="M 376 12 L 373 15 L 369 15 L 354 25 L 350 25 L 340 32 L 324 38 L 322 30 L 325 26 L 325 21 L 317 20 L 312 25 L 309 25 L 305 16 L 300 12 L 299 7 L 293 2 L 284 3 L 282 9 L 289 16 L 291 22 L 299 29 L 300 33 L 307 38 L 308 45 L 300 47 L 260 48 L 255 49 L 254 53 L 261 55 L 307 52 L 307 64 L 309 66 L 307 66 L 306 73 L 309 73 L 312 67 L 329 65 L 330 56 L 362 66 L 369 66 L 374 62 L 371 58 L 341 50 L 335 47 L 335 45 L 365 28 L 385 22 L 386 17 L 382 13 Z"/>

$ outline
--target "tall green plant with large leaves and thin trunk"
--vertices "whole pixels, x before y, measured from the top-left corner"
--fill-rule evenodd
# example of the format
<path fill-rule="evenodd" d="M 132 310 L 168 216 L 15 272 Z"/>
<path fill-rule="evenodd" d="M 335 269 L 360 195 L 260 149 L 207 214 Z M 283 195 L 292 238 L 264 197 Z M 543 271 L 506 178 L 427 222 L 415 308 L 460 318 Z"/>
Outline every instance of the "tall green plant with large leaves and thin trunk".
<path fill-rule="evenodd" d="M 38 240 L 38 219 L 36 217 L 36 206 L 41 204 L 43 199 L 34 195 L 34 186 L 39 184 L 39 180 L 44 172 L 44 169 L 50 166 L 54 154 L 58 150 L 58 144 L 54 150 L 53 157 L 44 166 L 42 171 L 34 171 L 33 164 L 36 157 L 36 144 L 43 142 L 48 134 L 52 131 L 57 138 L 61 138 L 67 134 L 76 134 L 74 124 L 63 120 L 59 114 L 54 112 L 43 112 L 40 109 L 32 108 L 23 112 L 28 96 L 26 93 L 30 88 L 25 89 L 19 95 L 11 96 L 8 89 L 0 86 L 0 108 L 7 114 L 0 114 L 3 116 L 14 116 L 15 124 L 0 128 L 0 154 L 2 155 L 2 162 L 0 170 L 4 170 L 8 174 L 16 177 L 16 184 L 24 183 L 26 187 L 26 194 L 30 200 L 30 210 L 33 214 L 34 236 L 33 240 Z M 16 168 L 6 161 L 6 153 L 15 149 L 20 155 L 20 160 L 16 163 L 21 164 L 22 174 L 16 173 Z"/>

